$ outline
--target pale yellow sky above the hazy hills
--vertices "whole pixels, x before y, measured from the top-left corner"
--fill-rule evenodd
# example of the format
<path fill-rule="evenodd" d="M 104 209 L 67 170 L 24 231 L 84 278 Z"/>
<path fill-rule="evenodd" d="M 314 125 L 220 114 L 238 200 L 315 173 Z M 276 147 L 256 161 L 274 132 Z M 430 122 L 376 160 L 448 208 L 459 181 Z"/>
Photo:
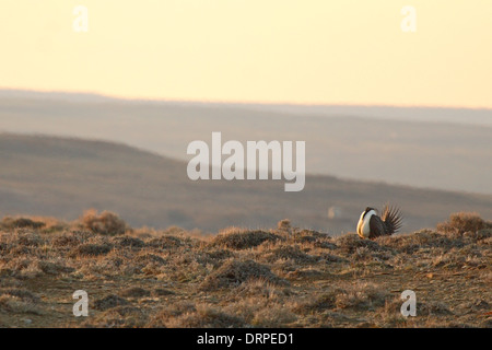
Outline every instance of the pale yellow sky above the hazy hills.
<path fill-rule="evenodd" d="M 2 89 L 492 108 L 492 0 L 2 0 L 0 45 Z"/>

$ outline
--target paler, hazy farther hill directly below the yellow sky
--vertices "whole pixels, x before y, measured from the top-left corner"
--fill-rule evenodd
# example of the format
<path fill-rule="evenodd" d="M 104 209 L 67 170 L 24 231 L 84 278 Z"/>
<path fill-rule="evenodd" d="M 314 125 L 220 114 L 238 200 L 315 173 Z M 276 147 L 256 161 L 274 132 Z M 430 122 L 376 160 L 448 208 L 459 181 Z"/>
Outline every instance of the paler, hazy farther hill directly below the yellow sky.
<path fill-rule="evenodd" d="M 121 142 L 186 160 L 194 140 L 306 141 L 306 171 L 492 195 L 492 109 L 125 101 L 0 90 L 0 132 Z"/>

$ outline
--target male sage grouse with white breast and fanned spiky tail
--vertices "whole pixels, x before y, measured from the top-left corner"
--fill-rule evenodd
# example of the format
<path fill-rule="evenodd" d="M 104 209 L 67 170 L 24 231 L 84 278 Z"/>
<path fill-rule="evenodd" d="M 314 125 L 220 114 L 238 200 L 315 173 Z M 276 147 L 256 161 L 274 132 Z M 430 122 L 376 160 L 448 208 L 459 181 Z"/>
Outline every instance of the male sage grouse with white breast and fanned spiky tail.
<path fill-rule="evenodd" d="M 367 207 L 358 223 L 358 234 L 361 238 L 374 240 L 378 236 L 389 236 L 401 228 L 401 212 L 398 208 L 386 206 L 380 218 L 376 209 Z"/>

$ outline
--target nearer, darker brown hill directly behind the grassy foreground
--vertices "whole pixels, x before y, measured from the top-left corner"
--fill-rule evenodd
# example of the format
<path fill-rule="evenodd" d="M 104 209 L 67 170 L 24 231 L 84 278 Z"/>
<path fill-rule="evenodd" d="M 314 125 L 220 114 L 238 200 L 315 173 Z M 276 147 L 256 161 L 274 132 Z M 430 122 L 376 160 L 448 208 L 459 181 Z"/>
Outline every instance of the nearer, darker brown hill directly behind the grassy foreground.
<path fill-rule="evenodd" d="M 133 226 L 216 232 L 227 225 L 294 226 L 330 234 L 354 231 L 366 206 L 401 207 L 405 232 L 434 226 L 456 211 L 492 218 L 492 196 L 307 176 L 301 192 L 283 180 L 192 182 L 186 163 L 125 144 L 45 136 L 0 135 L 0 217 L 73 220 L 110 210 Z"/>

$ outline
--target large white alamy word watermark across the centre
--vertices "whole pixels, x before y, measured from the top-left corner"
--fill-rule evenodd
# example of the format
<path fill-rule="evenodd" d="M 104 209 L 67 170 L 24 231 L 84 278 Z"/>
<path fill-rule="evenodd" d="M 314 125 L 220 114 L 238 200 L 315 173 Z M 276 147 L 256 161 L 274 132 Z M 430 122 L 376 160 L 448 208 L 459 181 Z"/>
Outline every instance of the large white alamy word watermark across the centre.
<path fill-rule="evenodd" d="M 236 140 L 222 144 L 222 133 L 212 132 L 211 148 L 201 140 L 188 144 L 187 154 L 195 156 L 188 163 L 187 174 L 192 180 L 242 180 L 269 179 L 271 173 L 272 179 L 290 182 L 284 185 L 285 191 L 301 191 L 305 185 L 306 145 L 305 141 L 295 141 L 295 159 L 293 145 L 293 141 L 247 141 L 244 147 Z"/>

